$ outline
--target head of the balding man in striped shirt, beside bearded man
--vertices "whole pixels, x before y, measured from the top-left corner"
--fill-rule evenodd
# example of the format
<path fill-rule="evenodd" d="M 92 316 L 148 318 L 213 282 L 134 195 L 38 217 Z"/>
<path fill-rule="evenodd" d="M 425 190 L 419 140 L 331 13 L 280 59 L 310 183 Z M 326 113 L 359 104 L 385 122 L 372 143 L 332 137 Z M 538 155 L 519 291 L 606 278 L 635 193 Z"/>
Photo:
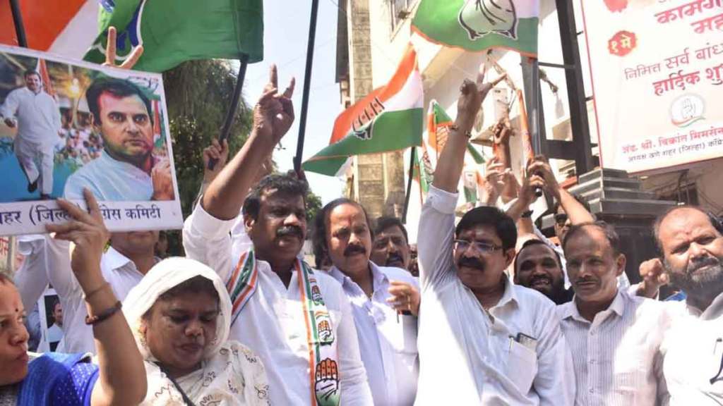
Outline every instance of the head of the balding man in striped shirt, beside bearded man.
<path fill-rule="evenodd" d="M 617 294 L 617 277 L 625 271 L 625 255 L 615 256 L 605 233 L 587 225 L 571 235 L 563 249 L 576 300 L 612 301 Z"/>

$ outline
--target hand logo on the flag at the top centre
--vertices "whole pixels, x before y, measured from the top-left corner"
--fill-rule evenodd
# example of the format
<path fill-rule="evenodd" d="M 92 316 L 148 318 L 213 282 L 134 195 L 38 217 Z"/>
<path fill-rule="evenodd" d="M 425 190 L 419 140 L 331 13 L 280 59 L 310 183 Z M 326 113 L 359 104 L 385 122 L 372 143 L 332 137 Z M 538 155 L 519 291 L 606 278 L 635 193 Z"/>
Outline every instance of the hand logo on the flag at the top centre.
<path fill-rule="evenodd" d="M 467 0 L 459 12 L 459 23 L 470 40 L 489 33 L 517 39 L 517 14 L 513 0 Z"/>

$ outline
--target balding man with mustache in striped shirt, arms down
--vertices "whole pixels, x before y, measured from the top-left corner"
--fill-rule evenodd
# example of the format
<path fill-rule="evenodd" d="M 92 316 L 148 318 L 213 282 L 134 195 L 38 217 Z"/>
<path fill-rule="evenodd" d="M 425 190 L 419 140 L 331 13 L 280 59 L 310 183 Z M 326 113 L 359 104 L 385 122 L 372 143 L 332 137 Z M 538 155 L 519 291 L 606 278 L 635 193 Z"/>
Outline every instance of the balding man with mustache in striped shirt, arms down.
<path fill-rule="evenodd" d="M 660 405 L 664 305 L 618 288 L 625 254 L 612 226 L 573 225 L 562 248 L 575 297 L 557 314 L 575 364 L 576 405 Z"/>

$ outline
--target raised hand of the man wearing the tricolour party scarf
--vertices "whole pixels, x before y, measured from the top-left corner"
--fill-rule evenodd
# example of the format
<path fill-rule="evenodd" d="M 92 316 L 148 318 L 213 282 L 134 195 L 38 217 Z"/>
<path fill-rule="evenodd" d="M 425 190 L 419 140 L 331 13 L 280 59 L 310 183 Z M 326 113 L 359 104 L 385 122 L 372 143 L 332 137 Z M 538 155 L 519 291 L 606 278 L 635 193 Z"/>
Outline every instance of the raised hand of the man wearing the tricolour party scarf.
<path fill-rule="evenodd" d="M 291 96 L 294 95 L 295 85 L 296 79 L 292 77 L 286 90 L 279 94 L 278 72 L 276 65 L 271 65 L 269 82 L 254 106 L 254 131 L 261 137 L 273 139 L 274 144 L 281 141 L 291 124 L 294 124 L 294 103 L 291 102 Z"/>

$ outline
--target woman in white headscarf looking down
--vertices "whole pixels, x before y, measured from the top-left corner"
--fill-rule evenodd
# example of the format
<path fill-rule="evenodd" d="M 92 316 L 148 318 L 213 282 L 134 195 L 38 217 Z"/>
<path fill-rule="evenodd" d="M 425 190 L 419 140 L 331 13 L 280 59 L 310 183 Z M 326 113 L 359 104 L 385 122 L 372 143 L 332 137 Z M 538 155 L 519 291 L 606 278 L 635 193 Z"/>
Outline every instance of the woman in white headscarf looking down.
<path fill-rule="evenodd" d="M 145 360 L 141 405 L 268 405 L 261 360 L 226 341 L 231 300 L 200 262 L 164 259 L 133 288 L 123 312 Z"/>

